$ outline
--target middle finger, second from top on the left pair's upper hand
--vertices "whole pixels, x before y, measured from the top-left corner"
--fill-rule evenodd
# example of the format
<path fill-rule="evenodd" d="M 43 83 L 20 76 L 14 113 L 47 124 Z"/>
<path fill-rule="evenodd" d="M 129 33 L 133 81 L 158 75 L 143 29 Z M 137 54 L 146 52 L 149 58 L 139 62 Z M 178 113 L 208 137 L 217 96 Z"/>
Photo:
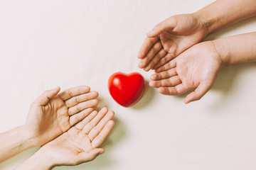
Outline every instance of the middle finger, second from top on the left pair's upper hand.
<path fill-rule="evenodd" d="M 74 96 L 74 97 L 68 99 L 67 101 L 65 101 L 65 104 L 66 104 L 66 106 L 68 106 L 68 108 L 70 108 L 75 105 L 78 105 L 79 103 L 81 103 L 83 101 L 89 101 L 93 98 L 97 98 L 97 96 L 99 96 L 97 91 L 90 91 L 87 94 L 80 94 L 79 96 Z"/>

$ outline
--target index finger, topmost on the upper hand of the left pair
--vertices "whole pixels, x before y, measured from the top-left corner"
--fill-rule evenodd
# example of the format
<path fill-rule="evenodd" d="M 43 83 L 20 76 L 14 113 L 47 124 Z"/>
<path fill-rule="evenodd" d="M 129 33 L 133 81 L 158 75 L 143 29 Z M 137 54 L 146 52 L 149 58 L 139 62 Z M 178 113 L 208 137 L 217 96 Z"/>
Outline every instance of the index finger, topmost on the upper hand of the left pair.
<path fill-rule="evenodd" d="M 70 89 L 67 89 L 59 94 L 59 97 L 63 99 L 63 101 L 68 100 L 74 96 L 78 96 L 80 94 L 86 94 L 90 91 L 89 86 L 77 86 Z"/>

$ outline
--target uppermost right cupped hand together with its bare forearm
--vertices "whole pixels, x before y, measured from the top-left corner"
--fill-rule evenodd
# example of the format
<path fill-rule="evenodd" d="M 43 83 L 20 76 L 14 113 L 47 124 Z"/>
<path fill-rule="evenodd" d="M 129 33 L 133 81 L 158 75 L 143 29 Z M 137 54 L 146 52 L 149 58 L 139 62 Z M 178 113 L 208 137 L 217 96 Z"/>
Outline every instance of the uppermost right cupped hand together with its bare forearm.
<path fill-rule="evenodd" d="M 255 0 L 219 0 L 196 13 L 166 18 L 146 34 L 138 54 L 139 67 L 146 72 L 157 69 L 209 33 L 255 15 Z"/>

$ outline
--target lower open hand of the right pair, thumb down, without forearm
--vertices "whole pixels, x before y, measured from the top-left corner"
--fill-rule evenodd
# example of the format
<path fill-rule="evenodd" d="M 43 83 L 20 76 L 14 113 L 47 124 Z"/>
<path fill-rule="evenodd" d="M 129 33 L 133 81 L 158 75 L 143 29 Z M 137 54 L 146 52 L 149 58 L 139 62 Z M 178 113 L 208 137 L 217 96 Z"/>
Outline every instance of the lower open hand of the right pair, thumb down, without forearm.
<path fill-rule="evenodd" d="M 166 95 L 183 94 L 196 88 L 186 96 L 185 103 L 196 101 L 213 85 L 222 65 L 213 42 L 201 42 L 156 69 L 156 74 L 150 77 L 149 86 Z"/>

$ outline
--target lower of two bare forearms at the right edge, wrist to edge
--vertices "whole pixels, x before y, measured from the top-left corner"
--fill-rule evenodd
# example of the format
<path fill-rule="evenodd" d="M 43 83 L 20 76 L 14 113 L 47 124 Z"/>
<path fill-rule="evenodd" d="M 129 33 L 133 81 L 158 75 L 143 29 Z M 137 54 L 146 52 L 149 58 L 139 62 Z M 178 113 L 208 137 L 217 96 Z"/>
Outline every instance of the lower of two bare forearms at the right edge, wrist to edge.
<path fill-rule="evenodd" d="M 256 32 L 213 40 L 223 64 L 240 64 L 256 61 Z"/>

